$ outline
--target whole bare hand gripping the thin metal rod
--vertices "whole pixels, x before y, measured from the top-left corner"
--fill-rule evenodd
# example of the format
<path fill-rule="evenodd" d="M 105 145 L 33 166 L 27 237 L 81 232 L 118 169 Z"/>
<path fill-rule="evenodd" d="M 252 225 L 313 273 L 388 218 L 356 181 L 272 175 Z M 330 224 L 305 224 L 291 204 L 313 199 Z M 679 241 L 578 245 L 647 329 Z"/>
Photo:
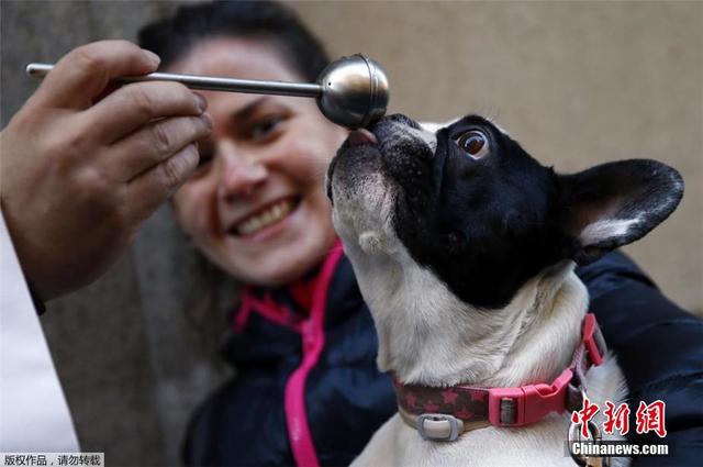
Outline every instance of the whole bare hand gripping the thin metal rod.
<path fill-rule="evenodd" d="M 112 79 L 157 66 L 125 41 L 78 47 L 0 133 L 2 214 L 43 300 L 103 274 L 198 165 L 212 126 L 202 97 L 176 82 L 108 93 Z"/>

